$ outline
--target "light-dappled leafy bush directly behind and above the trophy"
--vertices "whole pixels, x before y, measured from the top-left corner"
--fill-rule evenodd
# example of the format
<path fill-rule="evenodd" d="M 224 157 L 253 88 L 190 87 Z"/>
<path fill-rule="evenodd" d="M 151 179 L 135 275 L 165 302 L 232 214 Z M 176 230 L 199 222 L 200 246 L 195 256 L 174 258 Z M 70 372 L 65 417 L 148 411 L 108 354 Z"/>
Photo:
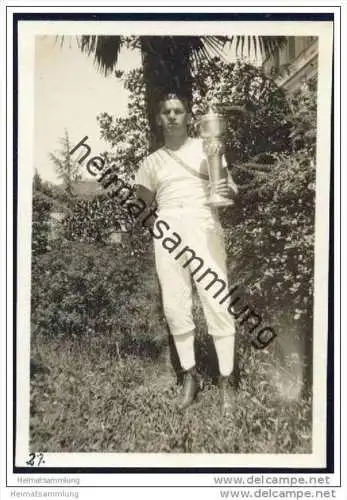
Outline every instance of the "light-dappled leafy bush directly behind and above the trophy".
<path fill-rule="evenodd" d="M 226 155 L 229 163 L 245 162 L 259 153 L 288 151 L 291 121 L 285 92 L 260 68 L 218 58 L 199 68 L 193 86 L 193 133 L 210 106 L 226 118 Z M 231 106 L 244 110 L 231 113 Z"/>

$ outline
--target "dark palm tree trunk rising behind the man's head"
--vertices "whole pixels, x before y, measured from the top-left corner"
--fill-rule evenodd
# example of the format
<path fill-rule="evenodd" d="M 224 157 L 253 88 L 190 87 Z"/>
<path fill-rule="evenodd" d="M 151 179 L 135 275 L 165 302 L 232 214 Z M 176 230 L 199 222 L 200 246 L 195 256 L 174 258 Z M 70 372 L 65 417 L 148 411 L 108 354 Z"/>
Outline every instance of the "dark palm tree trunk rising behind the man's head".
<path fill-rule="evenodd" d="M 190 47 L 186 38 L 161 36 L 141 38 L 147 116 L 153 151 L 162 145 L 163 140 L 156 126 L 156 108 L 160 98 L 168 92 L 175 92 L 189 102 L 192 100 Z"/>

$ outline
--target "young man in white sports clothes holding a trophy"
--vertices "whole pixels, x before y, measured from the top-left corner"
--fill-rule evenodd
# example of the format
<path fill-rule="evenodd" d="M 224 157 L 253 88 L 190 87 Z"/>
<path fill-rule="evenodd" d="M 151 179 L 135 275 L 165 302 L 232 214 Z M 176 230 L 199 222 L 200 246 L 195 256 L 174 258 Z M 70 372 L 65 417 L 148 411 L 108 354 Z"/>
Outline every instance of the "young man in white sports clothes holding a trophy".
<path fill-rule="evenodd" d="M 163 247 L 153 228 L 164 313 L 184 370 L 178 407 L 189 406 L 198 391 L 192 318 L 194 279 L 208 333 L 212 335 L 216 348 L 221 411 L 225 414 L 232 410 L 229 376 L 234 364 L 235 326 L 225 303 L 220 303 L 220 296 L 217 298 L 218 290 L 226 287 L 227 291 L 228 283 L 224 234 L 217 210 L 206 204 L 209 196 L 207 159 L 202 140 L 188 137 L 189 120 L 190 113 L 184 99 L 167 94 L 160 101 L 157 125 L 161 127 L 164 146 L 144 160 L 135 183 L 138 198 L 146 204 L 155 200 L 162 223 L 165 221 L 171 235 L 176 235 L 190 249 L 182 255 L 183 258 L 177 259 L 172 254 L 174 241 L 172 248 L 167 244 Z M 217 192 L 228 196 L 230 190 L 233 194 L 237 192 L 229 175 L 228 180 L 219 182 Z M 204 270 L 210 270 L 207 271 L 207 281 L 197 272 L 202 269 L 201 262 Z M 205 272 L 205 277 L 207 274 Z"/>

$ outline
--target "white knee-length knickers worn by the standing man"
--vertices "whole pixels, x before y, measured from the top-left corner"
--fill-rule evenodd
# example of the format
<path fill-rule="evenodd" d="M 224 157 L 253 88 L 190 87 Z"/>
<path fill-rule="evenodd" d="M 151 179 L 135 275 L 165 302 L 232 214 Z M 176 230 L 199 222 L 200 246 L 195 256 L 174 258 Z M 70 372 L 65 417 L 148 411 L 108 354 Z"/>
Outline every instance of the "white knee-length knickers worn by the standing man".
<path fill-rule="evenodd" d="M 230 299 L 220 304 L 228 294 L 228 279 L 224 234 L 219 221 L 190 211 L 163 211 L 156 224 L 160 220 L 165 221 L 170 229 L 165 226 L 163 237 L 158 238 L 159 232 L 155 225 L 153 227 L 154 235 L 157 234 L 154 239 L 155 261 L 164 313 L 172 335 L 181 335 L 195 328 L 192 279 L 201 300 L 208 333 L 234 335 L 234 318 L 228 312 Z M 184 250 L 185 247 L 190 250 Z"/>

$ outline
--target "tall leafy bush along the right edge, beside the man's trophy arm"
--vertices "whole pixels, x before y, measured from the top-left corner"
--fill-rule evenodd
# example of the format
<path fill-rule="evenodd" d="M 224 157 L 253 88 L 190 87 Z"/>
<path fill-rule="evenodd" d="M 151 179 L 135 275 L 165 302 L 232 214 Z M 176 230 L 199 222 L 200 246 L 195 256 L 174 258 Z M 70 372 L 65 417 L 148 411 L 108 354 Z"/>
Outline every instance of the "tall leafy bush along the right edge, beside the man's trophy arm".
<path fill-rule="evenodd" d="M 235 165 L 244 183 L 237 207 L 224 211 L 230 280 L 246 304 L 274 328 L 278 359 L 298 356 L 298 378 L 312 382 L 316 82 L 289 102 L 291 151 Z M 242 333 L 245 333 L 241 329 Z M 241 335 L 242 337 L 242 335 Z M 241 345 L 240 351 L 249 349 Z"/>

